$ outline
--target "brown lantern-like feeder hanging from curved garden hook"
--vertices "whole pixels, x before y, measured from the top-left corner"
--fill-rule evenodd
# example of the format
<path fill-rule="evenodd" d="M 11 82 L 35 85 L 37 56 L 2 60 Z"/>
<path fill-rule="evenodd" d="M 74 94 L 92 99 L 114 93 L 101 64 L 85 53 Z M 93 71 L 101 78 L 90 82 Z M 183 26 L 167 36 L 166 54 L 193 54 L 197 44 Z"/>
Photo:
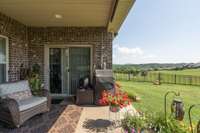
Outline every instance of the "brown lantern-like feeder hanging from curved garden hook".
<path fill-rule="evenodd" d="M 182 121 L 184 118 L 184 104 L 181 99 L 174 99 L 171 104 L 171 113 L 176 120 Z"/>

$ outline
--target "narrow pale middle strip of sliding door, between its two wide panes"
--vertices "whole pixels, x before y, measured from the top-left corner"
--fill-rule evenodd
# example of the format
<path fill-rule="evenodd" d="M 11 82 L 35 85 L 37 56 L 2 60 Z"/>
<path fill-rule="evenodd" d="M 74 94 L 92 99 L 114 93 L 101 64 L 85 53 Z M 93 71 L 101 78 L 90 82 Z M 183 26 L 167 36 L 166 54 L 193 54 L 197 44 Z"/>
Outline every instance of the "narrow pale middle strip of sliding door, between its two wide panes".
<path fill-rule="evenodd" d="M 62 49 L 62 80 L 63 80 L 63 94 L 69 95 L 69 49 Z"/>

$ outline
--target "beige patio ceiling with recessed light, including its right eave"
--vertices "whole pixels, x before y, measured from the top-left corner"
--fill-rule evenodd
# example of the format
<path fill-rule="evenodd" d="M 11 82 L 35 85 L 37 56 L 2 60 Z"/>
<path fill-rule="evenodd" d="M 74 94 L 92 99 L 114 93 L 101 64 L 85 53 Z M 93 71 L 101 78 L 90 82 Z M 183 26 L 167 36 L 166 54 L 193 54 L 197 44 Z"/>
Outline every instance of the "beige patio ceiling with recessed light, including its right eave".
<path fill-rule="evenodd" d="M 108 27 L 117 32 L 134 0 L 1 0 L 0 12 L 35 27 Z"/>

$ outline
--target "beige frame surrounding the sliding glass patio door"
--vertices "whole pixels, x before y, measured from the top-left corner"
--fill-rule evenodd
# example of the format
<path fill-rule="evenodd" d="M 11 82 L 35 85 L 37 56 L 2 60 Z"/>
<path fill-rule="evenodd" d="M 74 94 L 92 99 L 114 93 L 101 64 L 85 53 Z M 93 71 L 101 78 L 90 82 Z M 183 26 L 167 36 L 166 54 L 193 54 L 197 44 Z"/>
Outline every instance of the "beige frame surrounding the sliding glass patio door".
<path fill-rule="evenodd" d="M 50 48 L 73 48 L 73 47 L 90 48 L 90 79 L 91 79 L 91 82 L 93 81 L 93 45 L 49 44 L 49 45 L 45 45 L 45 47 L 44 47 L 44 87 L 45 87 L 45 89 L 50 90 L 49 49 Z M 70 59 L 70 57 L 69 57 L 69 59 Z M 68 74 L 68 77 L 70 77 L 69 74 Z M 66 95 L 66 94 L 62 93 L 62 94 L 51 94 L 51 96 L 60 98 L 60 97 L 66 97 L 66 96 L 70 96 L 70 95 Z"/>

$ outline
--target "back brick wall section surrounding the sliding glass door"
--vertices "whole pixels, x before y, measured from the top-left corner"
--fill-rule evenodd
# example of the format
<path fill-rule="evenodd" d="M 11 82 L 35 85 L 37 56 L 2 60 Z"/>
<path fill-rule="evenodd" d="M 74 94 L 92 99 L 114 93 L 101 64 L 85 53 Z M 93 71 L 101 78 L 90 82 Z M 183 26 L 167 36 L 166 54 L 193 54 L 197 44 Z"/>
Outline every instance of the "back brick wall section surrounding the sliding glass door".
<path fill-rule="evenodd" d="M 112 34 L 98 27 L 28 28 L 29 65 L 40 64 L 43 72 L 45 45 L 92 45 L 93 66 L 101 68 L 101 60 L 112 68 Z M 101 57 L 104 57 L 101 59 Z"/>

